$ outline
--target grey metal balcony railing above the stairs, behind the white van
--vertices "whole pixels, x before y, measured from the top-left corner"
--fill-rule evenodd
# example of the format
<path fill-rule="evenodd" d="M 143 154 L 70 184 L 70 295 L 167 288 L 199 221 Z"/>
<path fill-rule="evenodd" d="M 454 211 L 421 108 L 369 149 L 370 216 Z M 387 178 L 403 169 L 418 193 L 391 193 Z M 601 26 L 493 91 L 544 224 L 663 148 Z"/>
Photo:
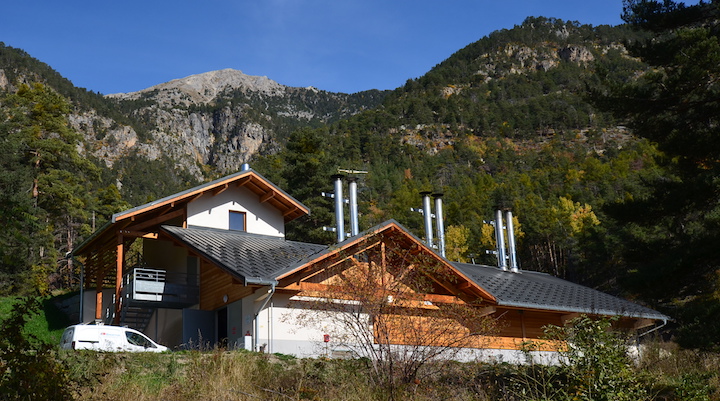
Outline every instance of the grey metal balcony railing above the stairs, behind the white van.
<path fill-rule="evenodd" d="M 195 305 L 200 294 L 198 279 L 183 273 L 134 268 L 123 278 L 123 302 L 152 303 L 167 308 Z"/>

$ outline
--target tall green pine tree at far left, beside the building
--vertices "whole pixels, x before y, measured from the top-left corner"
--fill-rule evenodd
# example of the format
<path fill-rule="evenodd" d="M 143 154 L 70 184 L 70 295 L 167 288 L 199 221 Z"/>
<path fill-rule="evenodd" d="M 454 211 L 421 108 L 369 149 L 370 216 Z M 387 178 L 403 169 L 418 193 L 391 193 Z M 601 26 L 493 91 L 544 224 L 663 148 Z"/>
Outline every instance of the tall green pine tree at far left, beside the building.
<path fill-rule="evenodd" d="M 79 155 L 82 137 L 69 127 L 70 108 L 59 94 L 41 84 L 21 85 L 1 104 L 0 221 L 9 230 L 0 234 L 0 287 L 43 291 L 59 251 L 72 248 L 86 220 L 97 168 Z"/>

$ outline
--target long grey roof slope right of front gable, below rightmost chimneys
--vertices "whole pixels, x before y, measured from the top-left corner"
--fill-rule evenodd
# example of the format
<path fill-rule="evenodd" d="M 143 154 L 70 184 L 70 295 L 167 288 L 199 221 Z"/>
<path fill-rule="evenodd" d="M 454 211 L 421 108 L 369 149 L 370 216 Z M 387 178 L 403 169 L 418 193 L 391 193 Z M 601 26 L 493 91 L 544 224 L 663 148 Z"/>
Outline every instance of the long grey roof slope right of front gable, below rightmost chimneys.
<path fill-rule="evenodd" d="M 467 263 L 452 264 L 497 298 L 498 305 L 606 316 L 670 320 L 662 313 L 549 274 Z"/>

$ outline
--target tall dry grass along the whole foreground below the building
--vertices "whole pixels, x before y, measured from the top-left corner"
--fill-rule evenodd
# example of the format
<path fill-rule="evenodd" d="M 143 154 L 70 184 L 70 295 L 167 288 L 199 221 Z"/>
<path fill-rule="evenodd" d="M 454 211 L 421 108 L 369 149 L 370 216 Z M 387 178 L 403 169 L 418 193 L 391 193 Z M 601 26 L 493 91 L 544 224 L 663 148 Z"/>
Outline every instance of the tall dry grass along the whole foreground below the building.
<path fill-rule="evenodd" d="M 720 399 L 720 355 L 656 344 L 635 366 L 644 400 Z M 669 352 L 666 352 L 669 351 Z M 68 352 L 78 400 L 469 400 L 577 399 L 557 367 L 442 362 L 441 375 L 390 394 L 363 360 L 295 359 L 247 351 L 165 354 Z M 93 373 L 88 373 L 93 372 Z M 547 380 L 546 380 L 547 379 Z M 544 383 L 544 384 L 543 384 Z M 523 387 L 525 386 L 525 387 Z M 545 386 L 540 388 L 538 386 Z M 619 391 L 622 389 L 615 389 Z"/>

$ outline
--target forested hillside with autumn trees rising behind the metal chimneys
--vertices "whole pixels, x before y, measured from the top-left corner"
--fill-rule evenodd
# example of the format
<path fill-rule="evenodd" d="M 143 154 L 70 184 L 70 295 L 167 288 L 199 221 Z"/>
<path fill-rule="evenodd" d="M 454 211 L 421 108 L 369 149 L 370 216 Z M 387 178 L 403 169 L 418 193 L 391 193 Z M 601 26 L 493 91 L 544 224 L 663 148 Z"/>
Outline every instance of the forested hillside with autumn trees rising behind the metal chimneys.
<path fill-rule="evenodd" d="M 602 207 L 645 196 L 644 176 L 658 168 L 656 150 L 587 96 L 603 78 L 621 83 L 645 68 L 620 38 L 639 36 L 529 18 L 409 80 L 373 111 L 296 131 L 256 167 L 314 211 L 330 209 L 317 188 L 329 187 L 334 169 L 369 171 L 361 181 L 365 227 L 396 218 L 420 234 L 421 218 L 410 212 L 418 193 L 444 192 L 453 259 L 493 263 L 483 219 L 510 207 L 528 268 L 617 291 L 605 280 L 614 223 Z M 328 218 L 316 214 L 295 233 L 328 241 L 318 228 Z"/>

